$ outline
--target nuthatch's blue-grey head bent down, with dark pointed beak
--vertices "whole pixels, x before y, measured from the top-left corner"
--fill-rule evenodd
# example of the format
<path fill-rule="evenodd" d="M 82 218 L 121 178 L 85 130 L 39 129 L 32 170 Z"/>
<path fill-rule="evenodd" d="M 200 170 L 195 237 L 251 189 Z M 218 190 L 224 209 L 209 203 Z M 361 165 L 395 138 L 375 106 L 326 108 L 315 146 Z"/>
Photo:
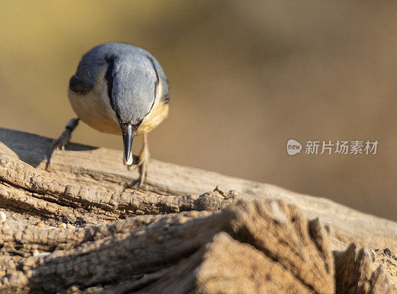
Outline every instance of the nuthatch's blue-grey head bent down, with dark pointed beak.
<path fill-rule="evenodd" d="M 124 56 L 113 60 L 106 74 L 112 106 L 117 114 L 124 143 L 125 165 L 132 164 L 132 140 L 156 97 L 159 77 L 149 56 Z"/>

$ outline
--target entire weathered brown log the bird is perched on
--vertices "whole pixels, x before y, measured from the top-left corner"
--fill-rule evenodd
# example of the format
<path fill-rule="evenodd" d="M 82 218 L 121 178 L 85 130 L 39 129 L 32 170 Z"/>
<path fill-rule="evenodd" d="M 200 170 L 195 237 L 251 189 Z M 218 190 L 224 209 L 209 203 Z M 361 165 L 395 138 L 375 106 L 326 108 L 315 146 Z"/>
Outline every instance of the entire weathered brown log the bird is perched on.
<path fill-rule="evenodd" d="M 395 247 L 392 221 L 156 160 L 136 191 L 105 148 L 46 171 L 50 143 L 0 129 L 0 293 L 397 293 L 392 249 L 356 252 Z"/>

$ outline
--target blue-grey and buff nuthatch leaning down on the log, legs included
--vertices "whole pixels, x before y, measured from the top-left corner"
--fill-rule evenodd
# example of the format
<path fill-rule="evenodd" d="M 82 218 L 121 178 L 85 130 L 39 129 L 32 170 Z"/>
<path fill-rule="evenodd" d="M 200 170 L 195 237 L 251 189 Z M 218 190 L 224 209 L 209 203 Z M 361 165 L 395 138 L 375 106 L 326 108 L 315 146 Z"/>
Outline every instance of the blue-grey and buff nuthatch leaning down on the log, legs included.
<path fill-rule="evenodd" d="M 121 135 L 123 163 L 132 165 L 132 141 L 142 135 L 138 189 L 145 183 L 149 150 L 147 133 L 168 115 L 169 84 L 159 62 L 146 50 L 128 43 L 98 45 L 85 53 L 67 91 L 76 114 L 47 151 L 48 169 L 55 149 L 65 150 L 79 121 L 108 134 Z"/>

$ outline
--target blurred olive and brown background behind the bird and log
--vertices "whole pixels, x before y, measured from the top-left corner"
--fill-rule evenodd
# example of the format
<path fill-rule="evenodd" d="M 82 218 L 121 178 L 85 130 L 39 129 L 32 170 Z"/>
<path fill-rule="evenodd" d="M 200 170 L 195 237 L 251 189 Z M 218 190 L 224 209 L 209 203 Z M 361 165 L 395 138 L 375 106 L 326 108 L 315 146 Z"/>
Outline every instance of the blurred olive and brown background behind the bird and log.
<path fill-rule="evenodd" d="M 0 127 L 58 137 L 81 55 L 124 41 L 171 87 L 153 158 L 397 220 L 396 1 L 1 1 Z M 378 140 L 375 155 L 286 142 Z M 83 123 L 72 141 L 122 149 Z M 135 140 L 138 153 L 141 140 Z M 122 162 L 120 162 L 122 164 Z"/>

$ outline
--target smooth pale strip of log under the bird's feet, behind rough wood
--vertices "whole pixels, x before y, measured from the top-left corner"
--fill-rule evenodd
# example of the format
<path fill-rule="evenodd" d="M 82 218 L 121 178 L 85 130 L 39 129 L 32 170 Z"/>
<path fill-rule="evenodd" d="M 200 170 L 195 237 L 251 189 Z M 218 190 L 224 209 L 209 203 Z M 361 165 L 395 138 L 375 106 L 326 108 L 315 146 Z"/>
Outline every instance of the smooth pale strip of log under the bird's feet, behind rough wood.
<path fill-rule="evenodd" d="M 94 187 L 110 191 L 110 194 L 134 192 L 129 187 L 136 183 L 139 175 L 121 163 L 123 154 L 120 150 L 70 144 L 65 152 L 56 151 L 51 172 L 45 172 L 45 152 L 51 141 L 38 135 L 0 128 L 0 153 L 27 162 L 43 175 L 62 179 L 68 184 L 83 187 L 83 190 Z M 358 212 L 325 198 L 155 159 L 150 160 L 147 183 L 147 190 L 153 195 L 197 195 L 219 186 L 223 191 L 236 190 L 244 197 L 284 200 L 299 206 L 308 217 L 330 223 L 333 236 L 344 243 L 397 250 L 396 222 Z"/>

